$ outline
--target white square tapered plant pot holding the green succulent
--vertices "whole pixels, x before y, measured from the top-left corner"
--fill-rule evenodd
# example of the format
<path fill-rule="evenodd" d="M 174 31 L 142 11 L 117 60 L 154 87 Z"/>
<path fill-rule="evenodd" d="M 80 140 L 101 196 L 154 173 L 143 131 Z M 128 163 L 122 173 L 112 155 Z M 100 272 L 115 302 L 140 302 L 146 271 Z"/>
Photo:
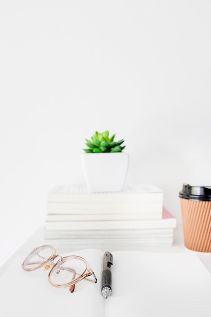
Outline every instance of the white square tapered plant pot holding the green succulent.
<path fill-rule="evenodd" d="M 82 153 L 82 167 L 91 192 L 121 191 L 129 167 L 129 154 Z"/>

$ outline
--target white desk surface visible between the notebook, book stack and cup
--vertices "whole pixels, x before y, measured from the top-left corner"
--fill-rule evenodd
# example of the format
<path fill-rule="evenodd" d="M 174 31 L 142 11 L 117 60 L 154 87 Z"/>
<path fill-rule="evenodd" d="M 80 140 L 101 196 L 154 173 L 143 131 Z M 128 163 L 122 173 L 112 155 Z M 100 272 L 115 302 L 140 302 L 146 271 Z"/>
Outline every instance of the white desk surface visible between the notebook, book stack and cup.
<path fill-rule="evenodd" d="M 13 254 L 13 256 L 0 267 L 0 276 L 7 270 L 9 264 L 15 259 L 16 256 L 23 256 L 23 260 L 25 257 L 33 250 L 34 247 L 38 247 L 41 245 L 47 244 L 44 240 L 44 227 L 40 227 L 37 231 L 22 245 L 22 247 Z M 57 254 L 69 253 L 73 254 L 74 251 L 88 249 L 87 246 L 60 246 L 55 245 Z M 99 246 L 92 248 L 101 249 L 102 251 L 122 251 L 122 250 L 133 250 L 133 251 L 145 251 L 145 252 L 194 252 L 185 248 L 184 240 L 183 240 L 183 230 L 182 225 L 177 225 L 174 229 L 174 242 L 173 246 L 139 246 L 139 247 L 114 247 L 114 246 L 103 246 L 100 248 Z M 211 253 L 201 253 L 194 252 L 201 262 L 206 266 L 206 268 L 211 273 Z"/>

